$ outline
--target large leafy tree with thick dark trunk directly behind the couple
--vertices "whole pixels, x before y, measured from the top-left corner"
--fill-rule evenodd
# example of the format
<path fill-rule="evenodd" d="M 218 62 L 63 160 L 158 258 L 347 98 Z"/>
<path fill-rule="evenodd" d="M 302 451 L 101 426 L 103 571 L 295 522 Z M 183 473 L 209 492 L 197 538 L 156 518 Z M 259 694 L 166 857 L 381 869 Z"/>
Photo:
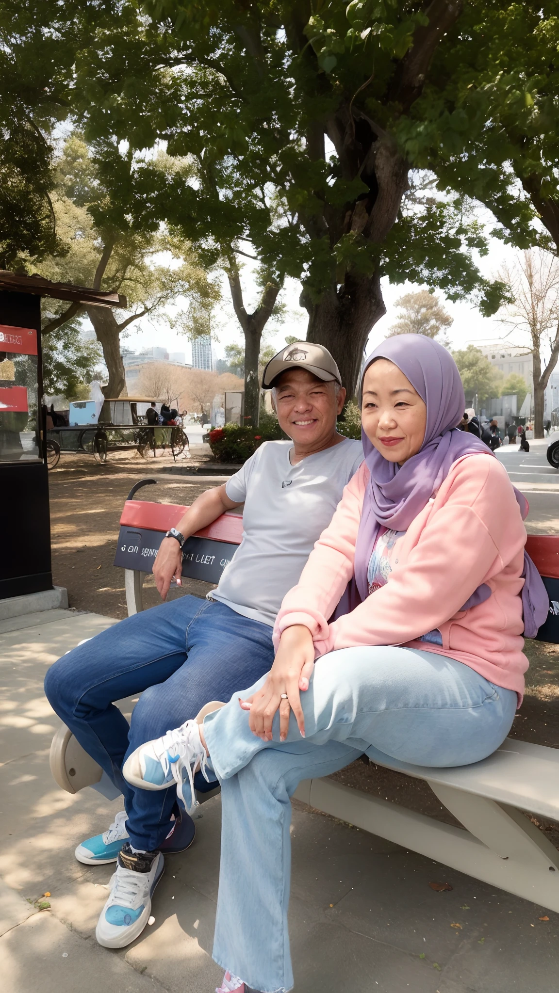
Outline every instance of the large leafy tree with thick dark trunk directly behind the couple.
<path fill-rule="evenodd" d="M 165 217 L 211 262 L 225 260 L 247 376 L 287 275 L 302 282 L 307 338 L 331 350 L 350 392 L 385 313 L 382 275 L 475 293 L 485 313 L 498 306 L 499 286 L 469 256 L 484 242 L 463 201 L 408 193 L 413 135 L 434 119 L 443 145 L 454 140 L 446 108 L 445 120 L 437 101 L 415 108 L 462 6 L 145 0 L 134 20 L 119 3 L 81 53 L 74 105 L 114 211 L 140 226 Z M 145 154 L 158 141 L 176 163 L 166 175 Z M 243 254 L 261 267 L 251 315 Z"/>

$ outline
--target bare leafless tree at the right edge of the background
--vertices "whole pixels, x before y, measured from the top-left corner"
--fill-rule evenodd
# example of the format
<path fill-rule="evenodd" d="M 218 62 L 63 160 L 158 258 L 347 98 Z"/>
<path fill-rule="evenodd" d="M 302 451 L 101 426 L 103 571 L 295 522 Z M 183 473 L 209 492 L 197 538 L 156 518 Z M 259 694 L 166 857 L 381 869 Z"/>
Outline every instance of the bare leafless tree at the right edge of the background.
<path fill-rule="evenodd" d="M 511 266 L 503 265 L 499 279 L 510 291 L 501 318 L 514 331 L 527 334 L 533 355 L 534 438 L 543 438 L 543 400 L 559 356 L 559 259 L 543 248 L 530 248 Z M 542 352 L 550 350 L 547 364 Z"/>

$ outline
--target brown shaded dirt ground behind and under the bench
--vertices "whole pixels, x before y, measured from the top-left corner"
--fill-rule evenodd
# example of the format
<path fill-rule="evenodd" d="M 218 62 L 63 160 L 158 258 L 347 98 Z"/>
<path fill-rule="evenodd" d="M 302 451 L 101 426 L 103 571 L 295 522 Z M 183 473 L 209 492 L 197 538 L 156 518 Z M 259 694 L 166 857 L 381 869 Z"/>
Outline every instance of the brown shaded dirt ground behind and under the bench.
<path fill-rule="evenodd" d="M 53 578 L 56 585 L 68 590 L 71 608 L 118 619 L 126 617 L 124 573 L 112 565 L 112 560 L 122 503 L 134 483 L 142 479 L 157 480 L 156 487 L 140 491 L 137 499 L 188 504 L 204 490 L 222 482 L 163 475 L 161 469 L 172 464 L 172 460 L 162 457 L 154 462 L 155 465 L 144 463 L 135 453 L 129 453 L 118 459 L 111 457 L 104 466 L 99 466 L 93 459 L 65 454 L 59 467 L 50 473 Z M 204 457 L 193 456 L 190 464 L 195 463 L 203 465 Z M 225 467 L 224 472 L 227 473 Z M 540 528 L 536 524 L 533 530 Z M 186 593 L 205 597 L 211 588 L 208 583 L 184 580 L 182 590 L 172 590 L 169 599 Z M 144 584 L 143 602 L 145 607 L 160 603 L 151 576 Z M 510 736 L 559 748 L 559 650 L 554 645 L 527 640 L 525 653 L 530 662 L 526 695 Z M 348 766 L 334 779 L 456 823 L 421 780 L 372 764 L 367 766 L 361 761 Z M 534 821 L 559 848 L 559 824 L 543 818 Z"/>

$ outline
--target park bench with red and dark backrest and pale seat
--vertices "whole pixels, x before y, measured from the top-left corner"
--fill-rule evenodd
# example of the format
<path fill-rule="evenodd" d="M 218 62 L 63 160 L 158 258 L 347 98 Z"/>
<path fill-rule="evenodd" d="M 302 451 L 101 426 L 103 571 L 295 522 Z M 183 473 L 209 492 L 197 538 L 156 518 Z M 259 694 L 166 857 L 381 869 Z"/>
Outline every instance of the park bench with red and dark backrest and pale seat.
<path fill-rule="evenodd" d="M 129 614 L 142 610 L 143 579 L 151 571 L 164 532 L 186 510 L 184 506 L 133 499 L 140 486 L 154 482 L 144 481 L 133 488 L 120 519 L 114 564 L 126 571 Z M 189 538 L 184 546 L 183 575 L 217 583 L 241 542 L 242 530 L 242 517 L 226 513 Z M 530 535 L 526 548 L 550 599 L 548 619 L 537 638 L 557 643 L 559 536 Z M 68 729 L 61 729 L 59 734 L 64 732 L 70 735 Z M 303 780 L 294 796 L 403 848 L 559 913 L 559 852 L 523 812 L 559 821 L 559 749 L 508 738 L 482 762 L 453 769 L 412 766 L 380 752 L 371 753 L 370 759 L 379 766 L 425 780 L 463 827 L 442 823 L 330 779 Z M 74 785 L 82 788 L 88 784 L 86 780 L 91 784 L 93 772 L 86 772 L 87 761 L 92 762 L 72 739 L 66 777 L 64 771 L 54 770 L 55 779 L 68 788 L 63 780 L 69 782 L 68 768 L 73 763 L 80 765 L 81 780 L 79 784 L 75 779 Z M 98 767 L 95 768 L 98 780 Z M 208 799 L 217 791 L 198 794 L 199 799 Z"/>

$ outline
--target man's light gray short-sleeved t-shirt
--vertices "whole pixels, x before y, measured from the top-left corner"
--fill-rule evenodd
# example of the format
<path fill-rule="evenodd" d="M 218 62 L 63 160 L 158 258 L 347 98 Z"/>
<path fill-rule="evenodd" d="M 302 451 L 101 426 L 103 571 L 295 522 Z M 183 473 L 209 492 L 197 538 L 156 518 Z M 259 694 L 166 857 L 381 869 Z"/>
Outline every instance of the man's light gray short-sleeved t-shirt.
<path fill-rule="evenodd" d="M 244 617 L 274 626 L 287 590 L 329 524 L 343 488 L 363 461 L 360 441 L 289 462 L 290 441 L 267 441 L 226 484 L 245 503 L 243 541 L 209 596 Z"/>

